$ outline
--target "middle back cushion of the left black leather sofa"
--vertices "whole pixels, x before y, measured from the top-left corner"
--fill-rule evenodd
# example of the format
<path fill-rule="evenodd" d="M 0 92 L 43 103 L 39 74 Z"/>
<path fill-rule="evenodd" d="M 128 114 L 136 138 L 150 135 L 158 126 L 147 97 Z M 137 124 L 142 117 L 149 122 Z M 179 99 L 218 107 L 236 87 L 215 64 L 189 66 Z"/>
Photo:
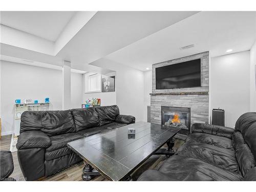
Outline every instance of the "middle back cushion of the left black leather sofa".
<path fill-rule="evenodd" d="M 74 109 L 72 110 L 72 114 L 75 121 L 76 131 L 99 126 L 99 116 L 95 108 Z"/>

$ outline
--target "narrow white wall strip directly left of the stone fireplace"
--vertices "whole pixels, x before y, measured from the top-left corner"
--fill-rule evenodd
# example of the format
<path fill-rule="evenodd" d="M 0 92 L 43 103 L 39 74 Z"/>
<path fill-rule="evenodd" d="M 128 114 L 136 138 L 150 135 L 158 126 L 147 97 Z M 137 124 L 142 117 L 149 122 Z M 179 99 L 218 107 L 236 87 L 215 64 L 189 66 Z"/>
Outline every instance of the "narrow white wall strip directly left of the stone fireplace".
<path fill-rule="evenodd" d="M 152 70 L 144 72 L 144 121 L 147 121 L 147 106 L 151 105 L 150 93 L 152 93 Z"/>

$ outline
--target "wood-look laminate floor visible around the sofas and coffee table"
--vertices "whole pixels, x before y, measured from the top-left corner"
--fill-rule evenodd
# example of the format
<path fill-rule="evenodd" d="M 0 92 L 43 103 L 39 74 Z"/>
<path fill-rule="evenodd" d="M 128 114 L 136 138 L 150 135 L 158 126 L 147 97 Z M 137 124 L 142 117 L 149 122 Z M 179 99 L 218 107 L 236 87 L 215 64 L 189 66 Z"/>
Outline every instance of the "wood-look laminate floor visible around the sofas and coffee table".
<path fill-rule="evenodd" d="M 184 143 L 183 140 L 175 139 L 174 148 L 178 148 Z M 9 151 L 11 144 L 11 135 L 2 136 L 0 139 L 0 150 Z M 164 145 L 163 147 L 167 147 Z M 14 170 L 10 177 L 23 178 L 22 170 L 19 167 L 17 152 L 12 153 Z M 138 179 L 138 177 L 147 169 L 157 169 L 162 162 L 166 159 L 164 155 L 153 155 L 147 161 L 145 161 L 135 172 L 132 174 L 132 178 L 134 181 Z M 82 181 L 81 174 L 82 168 L 84 167 L 83 162 L 76 164 L 72 167 L 66 168 L 61 172 L 44 179 L 44 181 Z M 91 181 L 107 181 L 103 176 L 98 176 L 93 178 Z"/>

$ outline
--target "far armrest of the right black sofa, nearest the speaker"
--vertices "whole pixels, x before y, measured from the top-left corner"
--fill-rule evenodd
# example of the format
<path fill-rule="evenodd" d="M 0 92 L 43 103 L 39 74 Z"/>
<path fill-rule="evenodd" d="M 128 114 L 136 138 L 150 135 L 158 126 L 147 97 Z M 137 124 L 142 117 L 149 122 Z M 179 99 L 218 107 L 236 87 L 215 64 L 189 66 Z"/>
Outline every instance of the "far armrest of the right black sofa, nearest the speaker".
<path fill-rule="evenodd" d="M 191 132 L 197 133 L 206 133 L 211 135 L 217 135 L 221 137 L 226 137 L 231 139 L 232 134 L 234 133 L 234 129 L 226 126 L 212 125 L 212 124 L 204 124 L 204 123 L 194 123 L 191 126 Z"/>

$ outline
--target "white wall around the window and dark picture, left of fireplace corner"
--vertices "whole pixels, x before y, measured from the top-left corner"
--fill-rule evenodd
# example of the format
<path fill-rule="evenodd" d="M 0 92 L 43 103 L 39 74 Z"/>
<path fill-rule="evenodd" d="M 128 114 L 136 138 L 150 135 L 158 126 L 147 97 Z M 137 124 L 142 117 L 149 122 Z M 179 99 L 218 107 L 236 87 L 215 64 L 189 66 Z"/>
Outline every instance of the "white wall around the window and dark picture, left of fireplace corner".
<path fill-rule="evenodd" d="M 116 71 L 116 104 L 120 114 L 133 115 L 137 122 L 144 121 L 143 72 L 104 58 L 93 62 L 92 65 Z"/>

